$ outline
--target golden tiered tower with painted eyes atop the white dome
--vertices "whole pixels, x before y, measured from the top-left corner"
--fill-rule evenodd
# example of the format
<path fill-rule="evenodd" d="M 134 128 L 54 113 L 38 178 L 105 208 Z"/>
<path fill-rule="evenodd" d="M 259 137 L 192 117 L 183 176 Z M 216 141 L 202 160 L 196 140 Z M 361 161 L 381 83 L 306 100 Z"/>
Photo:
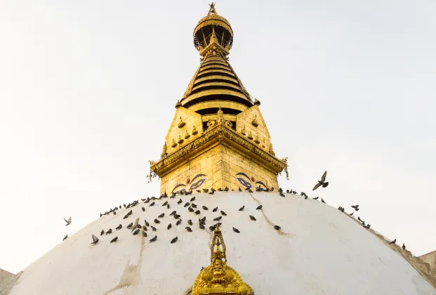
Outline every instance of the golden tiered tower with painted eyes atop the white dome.
<path fill-rule="evenodd" d="M 161 178 L 161 193 L 278 188 L 286 159 L 275 156 L 260 101 L 251 98 L 229 63 L 230 22 L 212 3 L 193 37 L 201 63 L 176 103 L 161 159 L 150 161 L 150 177 Z"/>

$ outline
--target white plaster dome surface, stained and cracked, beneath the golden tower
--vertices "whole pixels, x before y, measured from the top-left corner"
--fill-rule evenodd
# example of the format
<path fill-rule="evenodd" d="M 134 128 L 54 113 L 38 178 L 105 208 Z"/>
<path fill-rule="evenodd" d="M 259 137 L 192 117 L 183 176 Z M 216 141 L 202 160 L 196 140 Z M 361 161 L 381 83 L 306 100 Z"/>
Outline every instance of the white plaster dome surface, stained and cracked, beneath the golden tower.
<path fill-rule="evenodd" d="M 176 204 L 179 196 L 157 200 L 152 207 L 140 203 L 127 219 L 123 216 L 130 209 L 120 209 L 116 216 L 98 218 L 29 265 L 10 295 L 187 294 L 202 266 L 209 265 L 212 235 L 199 229 L 198 218 L 206 216 L 209 227 L 220 210 L 227 213 L 221 220 L 227 263 L 257 295 L 436 295 L 436 289 L 402 256 L 348 215 L 313 199 L 285 195 L 197 194 L 199 216 L 183 207 L 194 195 L 181 196 L 180 205 Z M 170 209 L 161 206 L 165 201 Z M 258 204 L 263 204 L 263 212 L 256 210 Z M 242 205 L 244 211 L 238 211 Z M 173 210 L 182 216 L 181 225 L 169 216 Z M 155 225 L 154 218 L 162 212 L 165 217 Z M 157 242 L 149 242 L 154 237 L 151 228 L 147 238 L 131 235 L 126 225 L 136 217 L 141 224 L 146 218 L 157 228 Z M 193 232 L 185 230 L 188 219 L 194 223 Z M 119 223 L 123 229 L 115 230 Z M 169 223 L 173 227 L 167 230 Z M 282 226 L 283 232 L 272 224 Z M 233 232 L 232 226 L 241 233 Z M 112 235 L 100 237 L 100 230 L 109 228 Z M 95 246 L 90 244 L 92 233 L 100 238 Z M 110 244 L 116 235 L 118 242 Z M 170 244 L 176 236 L 178 242 Z"/>

